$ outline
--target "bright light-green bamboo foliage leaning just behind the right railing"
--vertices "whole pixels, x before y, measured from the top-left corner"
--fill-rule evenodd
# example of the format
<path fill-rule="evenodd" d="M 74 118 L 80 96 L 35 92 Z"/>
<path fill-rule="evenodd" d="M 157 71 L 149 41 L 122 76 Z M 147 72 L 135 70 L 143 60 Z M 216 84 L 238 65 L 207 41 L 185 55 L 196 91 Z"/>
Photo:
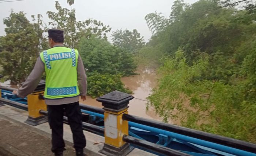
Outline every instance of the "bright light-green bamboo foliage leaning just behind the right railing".
<path fill-rule="evenodd" d="M 244 61 L 246 72 L 255 71 L 249 68 L 256 62 L 255 51 L 253 56 Z M 256 142 L 255 77 L 243 78 L 236 85 L 202 79 L 210 67 L 208 58 L 202 56 L 188 65 L 184 52 L 178 50 L 175 57 L 165 59 L 159 68 L 159 86 L 148 97 L 150 105 L 164 121 L 172 118 L 188 128 Z"/>

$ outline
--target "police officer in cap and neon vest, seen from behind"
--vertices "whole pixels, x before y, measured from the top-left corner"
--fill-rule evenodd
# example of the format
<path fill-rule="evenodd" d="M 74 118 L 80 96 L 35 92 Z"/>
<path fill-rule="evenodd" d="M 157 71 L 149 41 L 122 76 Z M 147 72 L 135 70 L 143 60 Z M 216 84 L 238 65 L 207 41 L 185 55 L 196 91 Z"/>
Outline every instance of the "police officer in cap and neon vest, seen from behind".
<path fill-rule="evenodd" d="M 65 150 L 63 140 L 63 114 L 66 113 L 73 133 L 76 156 L 83 156 L 86 140 L 82 130 L 82 113 L 79 108 L 79 95 L 86 100 L 86 74 L 81 57 L 76 49 L 64 47 L 63 31 L 48 30 L 48 50 L 40 53 L 33 71 L 18 91 L 24 98 L 37 87 L 42 74 L 46 73 L 45 103 L 48 109 L 48 121 L 52 129 L 52 152 L 62 156 Z M 79 83 L 79 88 L 78 88 Z"/>

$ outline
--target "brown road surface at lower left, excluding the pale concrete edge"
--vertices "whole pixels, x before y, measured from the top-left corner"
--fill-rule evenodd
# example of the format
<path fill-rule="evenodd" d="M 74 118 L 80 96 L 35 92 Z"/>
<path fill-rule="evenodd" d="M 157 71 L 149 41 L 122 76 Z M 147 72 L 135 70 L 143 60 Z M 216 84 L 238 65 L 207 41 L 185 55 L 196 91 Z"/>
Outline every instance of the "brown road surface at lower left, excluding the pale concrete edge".
<path fill-rule="evenodd" d="M 30 126 L 11 120 L 0 115 L 0 155 L 1 156 L 29 156 L 52 155 L 51 140 Z M 74 155 L 74 150 L 67 145 L 65 156 Z"/>

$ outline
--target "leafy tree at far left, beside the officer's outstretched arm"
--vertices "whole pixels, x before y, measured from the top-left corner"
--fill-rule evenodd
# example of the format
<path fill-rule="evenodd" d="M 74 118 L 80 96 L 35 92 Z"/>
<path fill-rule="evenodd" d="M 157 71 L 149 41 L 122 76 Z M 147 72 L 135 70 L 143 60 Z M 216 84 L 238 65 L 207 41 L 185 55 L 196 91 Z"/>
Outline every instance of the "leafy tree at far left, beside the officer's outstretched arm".
<path fill-rule="evenodd" d="M 34 16 L 33 21 L 35 21 Z M 6 35 L 0 38 L 0 65 L 5 79 L 12 84 L 25 81 L 33 69 L 39 52 L 45 48 L 46 40 L 43 38 L 41 15 L 37 23 L 30 23 L 25 13 L 11 12 L 4 19 Z"/>

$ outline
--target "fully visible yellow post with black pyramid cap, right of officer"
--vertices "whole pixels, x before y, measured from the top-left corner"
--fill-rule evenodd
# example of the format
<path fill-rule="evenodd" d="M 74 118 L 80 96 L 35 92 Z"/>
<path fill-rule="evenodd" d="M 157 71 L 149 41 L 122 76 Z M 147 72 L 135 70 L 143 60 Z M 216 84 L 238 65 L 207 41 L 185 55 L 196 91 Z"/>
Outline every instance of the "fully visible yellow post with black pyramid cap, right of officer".
<path fill-rule="evenodd" d="M 128 143 L 123 141 L 123 135 L 128 135 L 128 121 L 122 116 L 128 113 L 129 101 L 134 97 L 120 91 L 112 91 L 97 98 L 102 102 L 105 127 L 105 144 L 99 152 L 108 156 L 125 156 L 133 150 Z"/>

